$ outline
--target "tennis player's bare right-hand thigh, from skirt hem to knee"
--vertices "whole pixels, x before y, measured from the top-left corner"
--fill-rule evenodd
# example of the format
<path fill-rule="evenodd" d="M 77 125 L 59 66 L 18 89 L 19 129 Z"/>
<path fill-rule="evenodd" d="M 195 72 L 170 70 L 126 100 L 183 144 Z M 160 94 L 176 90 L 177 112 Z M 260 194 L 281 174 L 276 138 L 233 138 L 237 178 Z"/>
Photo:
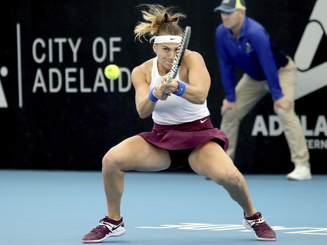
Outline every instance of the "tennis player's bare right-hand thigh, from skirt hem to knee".
<path fill-rule="evenodd" d="M 238 171 L 226 152 L 213 141 L 195 148 L 189 164 L 196 173 L 215 181 L 228 179 Z"/>

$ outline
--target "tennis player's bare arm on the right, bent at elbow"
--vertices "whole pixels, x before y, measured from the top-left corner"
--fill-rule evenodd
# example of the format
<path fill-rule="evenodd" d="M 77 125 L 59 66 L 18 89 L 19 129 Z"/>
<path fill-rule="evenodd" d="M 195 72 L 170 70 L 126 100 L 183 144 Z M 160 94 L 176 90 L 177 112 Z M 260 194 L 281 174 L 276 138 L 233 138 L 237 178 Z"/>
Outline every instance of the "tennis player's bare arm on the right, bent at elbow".
<path fill-rule="evenodd" d="M 194 51 L 188 52 L 184 56 L 183 66 L 188 71 L 190 84 L 185 87 L 181 97 L 194 104 L 203 104 L 210 88 L 210 75 L 202 56 Z M 174 80 L 172 85 L 176 84 Z"/>

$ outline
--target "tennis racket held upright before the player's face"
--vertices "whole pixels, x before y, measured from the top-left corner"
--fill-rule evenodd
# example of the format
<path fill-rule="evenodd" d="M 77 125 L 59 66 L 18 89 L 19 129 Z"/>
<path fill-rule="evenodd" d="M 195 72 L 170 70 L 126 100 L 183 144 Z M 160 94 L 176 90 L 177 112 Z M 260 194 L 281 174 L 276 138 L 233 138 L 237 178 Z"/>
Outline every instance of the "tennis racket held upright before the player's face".
<path fill-rule="evenodd" d="M 173 65 L 172 65 L 171 70 L 169 71 L 166 82 L 172 82 L 173 78 L 175 78 L 177 76 L 178 71 L 181 68 L 184 53 L 187 48 L 187 45 L 189 44 L 190 37 L 191 37 L 191 27 L 186 27 L 183 32 L 182 41 L 181 41 L 180 45 L 178 46 Z"/>

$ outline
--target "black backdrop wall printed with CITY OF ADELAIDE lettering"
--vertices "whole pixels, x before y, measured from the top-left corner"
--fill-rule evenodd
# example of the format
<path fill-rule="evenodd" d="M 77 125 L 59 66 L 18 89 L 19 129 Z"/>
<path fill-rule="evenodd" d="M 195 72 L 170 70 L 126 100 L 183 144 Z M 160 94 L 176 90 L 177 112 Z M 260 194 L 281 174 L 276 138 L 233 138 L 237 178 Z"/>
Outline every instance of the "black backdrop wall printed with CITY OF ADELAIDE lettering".
<path fill-rule="evenodd" d="M 276 46 L 294 57 L 319 1 L 324 0 L 248 0 L 247 15 L 261 22 Z M 134 88 L 130 87 L 132 69 L 154 55 L 149 43 L 134 41 L 133 28 L 141 21 L 135 6 L 141 3 L 30 0 L 10 1 L 3 6 L 0 168 L 100 170 L 102 157 L 111 147 L 151 130 L 151 118 L 137 115 Z M 207 103 L 211 120 L 219 127 L 224 92 L 214 31 L 221 21 L 219 14 L 213 13 L 219 1 L 146 3 L 177 6 L 187 14 L 182 26 L 192 27 L 189 49 L 202 54 L 211 75 Z M 325 13 L 327 5 L 322 5 Z M 311 67 L 326 64 L 326 40 L 324 34 Z M 102 70 L 110 63 L 122 68 L 120 80 L 104 78 Z M 237 71 L 237 78 L 240 75 Z M 306 134 L 313 173 L 327 173 L 326 91 L 323 87 L 296 100 L 296 112 L 304 116 L 304 127 L 315 132 Z M 252 135 L 258 115 L 269 128 L 273 114 L 268 95 L 242 121 L 235 159 L 242 172 L 292 170 L 283 134 Z"/>

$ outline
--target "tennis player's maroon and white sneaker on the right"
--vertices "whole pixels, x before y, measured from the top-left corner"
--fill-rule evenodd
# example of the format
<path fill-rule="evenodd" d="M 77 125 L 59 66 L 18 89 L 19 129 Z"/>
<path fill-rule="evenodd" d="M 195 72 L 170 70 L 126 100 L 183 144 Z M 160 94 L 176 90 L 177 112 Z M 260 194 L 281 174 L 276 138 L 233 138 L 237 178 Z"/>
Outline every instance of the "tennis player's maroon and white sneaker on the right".
<path fill-rule="evenodd" d="M 276 240 L 275 231 L 266 223 L 260 212 L 256 212 L 251 217 L 245 216 L 244 213 L 243 225 L 247 229 L 254 230 L 257 238 L 261 241 Z"/>

